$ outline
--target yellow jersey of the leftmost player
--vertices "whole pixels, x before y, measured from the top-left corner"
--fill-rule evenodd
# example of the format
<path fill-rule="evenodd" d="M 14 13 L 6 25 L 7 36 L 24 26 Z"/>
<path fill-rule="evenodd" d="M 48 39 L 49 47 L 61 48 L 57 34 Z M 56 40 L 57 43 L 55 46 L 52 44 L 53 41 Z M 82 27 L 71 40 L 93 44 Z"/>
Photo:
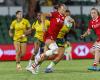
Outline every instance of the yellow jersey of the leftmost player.
<path fill-rule="evenodd" d="M 27 41 L 27 37 L 23 37 L 20 39 L 20 37 L 24 34 L 26 29 L 30 27 L 30 23 L 27 19 L 22 19 L 20 22 L 18 22 L 16 19 L 12 21 L 10 25 L 10 29 L 14 29 L 14 41 L 20 41 L 25 42 Z"/>

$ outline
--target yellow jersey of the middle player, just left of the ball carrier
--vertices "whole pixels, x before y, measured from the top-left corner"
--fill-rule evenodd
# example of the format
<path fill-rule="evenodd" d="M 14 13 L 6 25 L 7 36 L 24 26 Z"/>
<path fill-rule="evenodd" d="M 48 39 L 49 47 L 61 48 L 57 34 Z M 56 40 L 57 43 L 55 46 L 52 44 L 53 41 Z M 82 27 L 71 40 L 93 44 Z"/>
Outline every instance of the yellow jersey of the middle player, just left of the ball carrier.
<path fill-rule="evenodd" d="M 45 28 L 46 29 L 49 27 L 49 25 L 50 25 L 50 21 L 49 20 L 45 20 Z M 40 41 L 43 41 L 44 32 L 43 32 L 42 23 L 39 23 L 38 20 L 37 20 L 36 22 L 34 22 L 32 24 L 32 29 L 36 30 L 34 37 L 38 38 Z"/>

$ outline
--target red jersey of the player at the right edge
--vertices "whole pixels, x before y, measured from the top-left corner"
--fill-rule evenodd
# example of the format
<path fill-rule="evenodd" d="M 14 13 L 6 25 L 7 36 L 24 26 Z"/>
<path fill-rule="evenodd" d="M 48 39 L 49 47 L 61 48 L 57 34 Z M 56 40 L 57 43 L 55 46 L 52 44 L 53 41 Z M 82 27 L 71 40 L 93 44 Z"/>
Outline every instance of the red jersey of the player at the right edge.
<path fill-rule="evenodd" d="M 90 20 L 88 29 L 93 29 L 98 37 L 97 41 L 100 41 L 100 17 Z"/>

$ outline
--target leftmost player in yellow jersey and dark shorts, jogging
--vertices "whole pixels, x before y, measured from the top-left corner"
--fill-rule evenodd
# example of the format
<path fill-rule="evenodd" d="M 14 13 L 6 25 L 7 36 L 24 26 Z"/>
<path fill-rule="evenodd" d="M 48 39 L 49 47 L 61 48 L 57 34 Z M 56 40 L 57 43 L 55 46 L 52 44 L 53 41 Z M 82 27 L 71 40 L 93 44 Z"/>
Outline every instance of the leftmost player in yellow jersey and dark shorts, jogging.
<path fill-rule="evenodd" d="M 21 57 L 25 55 L 27 37 L 25 32 L 30 28 L 30 23 L 27 19 L 23 18 L 22 11 L 16 12 L 16 19 L 10 25 L 9 35 L 13 37 L 14 47 L 16 50 L 16 69 L 22 70 L 20 65 Z"/>

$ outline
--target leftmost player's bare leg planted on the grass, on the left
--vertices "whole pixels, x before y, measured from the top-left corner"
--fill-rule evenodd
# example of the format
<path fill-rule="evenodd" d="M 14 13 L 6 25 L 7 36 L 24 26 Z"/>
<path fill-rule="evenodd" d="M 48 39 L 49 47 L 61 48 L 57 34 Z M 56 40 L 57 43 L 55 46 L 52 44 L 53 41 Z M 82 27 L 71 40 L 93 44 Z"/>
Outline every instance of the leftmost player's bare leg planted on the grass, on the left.
<path fill-rule="evenodd" d="M 21 70 L 21 65 L 20 65 L 20 42 L 14 42 L 14 47 L 16 50 L 16 69 Z"/>

